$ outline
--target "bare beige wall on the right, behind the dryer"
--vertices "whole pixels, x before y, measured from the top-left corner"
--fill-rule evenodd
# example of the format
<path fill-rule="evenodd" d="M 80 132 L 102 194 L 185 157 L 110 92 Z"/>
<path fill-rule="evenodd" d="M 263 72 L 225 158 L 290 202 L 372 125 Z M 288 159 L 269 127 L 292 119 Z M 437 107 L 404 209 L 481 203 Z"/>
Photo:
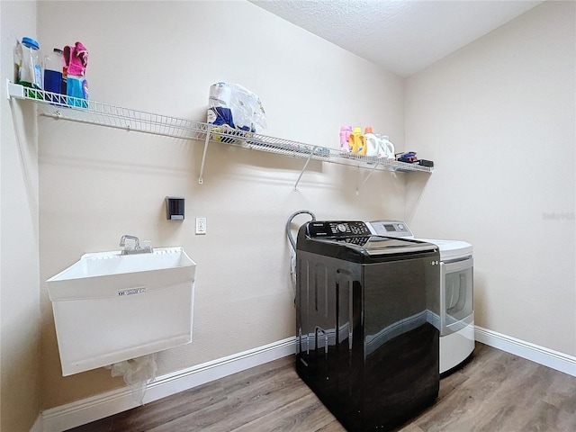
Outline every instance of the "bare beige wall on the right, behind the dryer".
<path fill-rule="evenodd" d="M 474 246 L 476 324 L 576 355 L 574 2 L 546 2 L 406 80 L 434 159 L 407 218 Z"/>

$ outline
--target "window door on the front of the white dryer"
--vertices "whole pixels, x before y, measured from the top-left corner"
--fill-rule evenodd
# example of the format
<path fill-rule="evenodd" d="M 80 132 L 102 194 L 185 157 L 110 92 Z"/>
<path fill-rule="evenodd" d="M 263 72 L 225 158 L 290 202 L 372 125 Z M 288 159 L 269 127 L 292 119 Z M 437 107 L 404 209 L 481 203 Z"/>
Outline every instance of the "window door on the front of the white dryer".
<path fill-rule="evenodd" d="M 473 258 L 441 264 L 440 309 L 442 329 L 446 336 L 464 329 L 473 315 Z"/>

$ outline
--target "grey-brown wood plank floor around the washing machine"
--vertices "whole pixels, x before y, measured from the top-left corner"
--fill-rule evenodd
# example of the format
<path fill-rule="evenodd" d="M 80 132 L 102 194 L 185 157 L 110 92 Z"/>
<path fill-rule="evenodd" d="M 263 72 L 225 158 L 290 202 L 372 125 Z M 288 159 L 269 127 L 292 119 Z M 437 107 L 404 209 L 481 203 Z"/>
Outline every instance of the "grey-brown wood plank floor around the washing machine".
<path fill-rule="evenodd" d="M 345 429 L 302 383 L 289 356 L 72 431 Z M 576 377 L 476 343 L 472 361 L 440 382 L 435 405 L 397 431 L 573 432 Z"/>

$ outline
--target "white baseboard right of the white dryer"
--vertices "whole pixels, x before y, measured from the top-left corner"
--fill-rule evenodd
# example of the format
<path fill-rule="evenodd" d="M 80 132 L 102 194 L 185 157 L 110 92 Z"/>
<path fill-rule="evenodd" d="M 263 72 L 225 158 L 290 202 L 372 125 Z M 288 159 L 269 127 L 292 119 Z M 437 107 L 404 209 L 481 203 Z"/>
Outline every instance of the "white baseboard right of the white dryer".
<path fill-rule="evenodd" d="M 489 329 L 482 329 L 476 326 L 474 329 L 474 338 L 482 344 L 498 348 L 515 356 L 527 358 L 540 365 L 545 365 L 563 372 L 576 376 L 576 357 L 563 354 L 554 349 L 540 347 L 530 342 L 512 338 Z"/>

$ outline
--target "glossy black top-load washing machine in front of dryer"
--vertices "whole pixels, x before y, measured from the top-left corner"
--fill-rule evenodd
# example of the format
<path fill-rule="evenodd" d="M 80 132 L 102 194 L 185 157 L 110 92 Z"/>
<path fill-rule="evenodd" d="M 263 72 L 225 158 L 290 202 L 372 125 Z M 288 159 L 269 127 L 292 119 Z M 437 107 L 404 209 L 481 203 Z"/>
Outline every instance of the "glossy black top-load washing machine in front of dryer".
<path fill-rule="evenodd" d="M 394 428 L 440 385 L 438 247 L 373 234 L 311 221 L 296 247 L 296 370 L 348 431 Z"/>

